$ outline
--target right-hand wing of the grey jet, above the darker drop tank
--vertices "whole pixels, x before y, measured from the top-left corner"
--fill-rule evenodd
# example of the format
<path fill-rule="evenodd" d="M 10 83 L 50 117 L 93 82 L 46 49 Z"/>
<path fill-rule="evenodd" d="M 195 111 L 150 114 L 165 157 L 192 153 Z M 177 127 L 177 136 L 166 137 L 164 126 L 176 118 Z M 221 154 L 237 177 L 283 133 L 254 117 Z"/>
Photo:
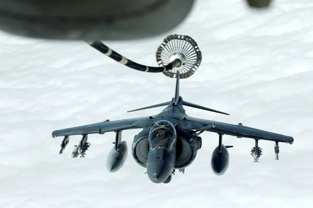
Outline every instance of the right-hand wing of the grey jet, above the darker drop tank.
<path fill-rule="evenodd" d="M 213 128 L 208 128 L 206 131 L 236 136 L 236 137 L 243 137 L 243 138 L 252 138 L 258 140 L 268 140 L 274 142 L 283 142 L 283 143 L 293 143 L 293 137 L 285 136 L 282 134 L 277 134 L 269 131 L 264 131 L 261 129 L 251 128 L 244 125 L 232 125 L 226 124 L 216 121 L 210 121 L 205 119 L 198 119 L 187 116 L 185 121 L 189 122 L 189 126 L 195 130 L 199 130 L 208 125 L 215 125 Z"/>

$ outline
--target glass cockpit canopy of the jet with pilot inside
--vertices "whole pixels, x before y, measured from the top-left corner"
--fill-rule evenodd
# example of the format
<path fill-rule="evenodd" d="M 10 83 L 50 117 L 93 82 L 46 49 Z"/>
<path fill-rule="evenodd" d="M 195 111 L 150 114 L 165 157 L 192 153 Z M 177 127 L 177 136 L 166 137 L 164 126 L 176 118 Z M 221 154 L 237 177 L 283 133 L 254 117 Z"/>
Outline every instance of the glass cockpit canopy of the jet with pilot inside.
<path fill-rule="evenodd" d="M 176 145 L 175 127 L 168 121 L 158 121 L 149 133 L 149 146 L 151 149 L 158 147 L 171 149 Z"/>

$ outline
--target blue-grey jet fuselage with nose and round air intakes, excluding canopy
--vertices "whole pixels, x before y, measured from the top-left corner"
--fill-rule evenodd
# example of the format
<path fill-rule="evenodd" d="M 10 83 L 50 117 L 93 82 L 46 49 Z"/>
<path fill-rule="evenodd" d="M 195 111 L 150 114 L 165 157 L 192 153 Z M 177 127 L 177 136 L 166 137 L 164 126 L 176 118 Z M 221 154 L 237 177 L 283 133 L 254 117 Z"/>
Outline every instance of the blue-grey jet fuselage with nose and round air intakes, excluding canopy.
<path fill-rule="evenodd" d="M 174 148 L 151 149 L 148 143 L 150 129 L 145 128 L 135 135 L 132 143 L 132 155 L 135 161 L 145 168 L 149 179 L 154 183 L 164 182 L 174 169 L 183 169 L 193 163 L 197 150 L 201 148 L 201 138 L 193 137 L 192 129 L 182 124 L 176 119 L 186 116 L 181 104 L 181 99 L 177 106 L 169 106 L 163 112 L 155 115 L 157 118 L 152 125 L 158 121 L 166 120 L 170 122 L 176 130 L 177 139 Z"/>

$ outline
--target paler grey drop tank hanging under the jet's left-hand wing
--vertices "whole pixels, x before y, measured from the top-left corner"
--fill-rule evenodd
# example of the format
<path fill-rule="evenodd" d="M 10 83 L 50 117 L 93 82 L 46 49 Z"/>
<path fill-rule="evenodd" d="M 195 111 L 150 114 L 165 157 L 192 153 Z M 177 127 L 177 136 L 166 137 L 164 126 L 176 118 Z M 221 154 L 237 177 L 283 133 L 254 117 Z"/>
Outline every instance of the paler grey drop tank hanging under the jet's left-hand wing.
<path fill-rule="evenodd" d="M 118 171 L 124 165 L 127 153 L 128 149 L 126 141 L 122 141 L 117 149 L 113 147 L 106 160 L 107 170 L 111 173 Z"/>

